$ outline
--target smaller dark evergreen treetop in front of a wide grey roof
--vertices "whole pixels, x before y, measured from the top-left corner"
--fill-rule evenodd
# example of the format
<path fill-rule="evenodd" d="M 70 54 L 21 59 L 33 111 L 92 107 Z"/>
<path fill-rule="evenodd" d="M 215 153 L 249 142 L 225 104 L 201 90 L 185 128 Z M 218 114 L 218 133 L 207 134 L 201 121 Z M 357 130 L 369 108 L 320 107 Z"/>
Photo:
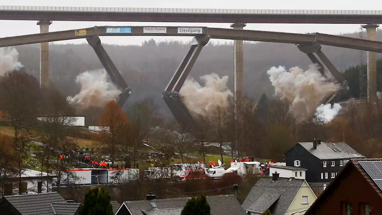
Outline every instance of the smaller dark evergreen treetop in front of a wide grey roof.
<path fill-rule="evenodd" d="M 181 215 L 211 215 L 211 207 L 207 202 L 206 196 L 189 199 Z"/>

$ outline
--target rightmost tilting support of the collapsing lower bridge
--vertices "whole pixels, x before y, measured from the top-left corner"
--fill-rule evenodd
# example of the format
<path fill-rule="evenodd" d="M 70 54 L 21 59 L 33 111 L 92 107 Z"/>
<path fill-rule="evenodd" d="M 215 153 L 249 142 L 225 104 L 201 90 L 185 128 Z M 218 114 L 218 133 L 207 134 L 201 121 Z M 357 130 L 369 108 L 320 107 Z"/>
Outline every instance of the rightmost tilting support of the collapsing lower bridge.
<path fill-rule="evenodd" d="M 329 98 L 326 98 L 324 103 L 333 103 L 338 102 L 341 97 L 349 90 L 348 82 L 346 81 L 345 77 L 343 77 L 342 73 L 335 68 L 335 66 L 330 62 L 330 60 L 326 57 L 326 55 L 321 51 L 321 45 L 318 43 L 314 44 L 299 44 L 298 49 L 301 52 L 306 53 L 308 55 L 309 59 L 313 62 L 319 65 L 319 71 L 322 74 L 322 76 L 327 77 L 327 74 L 325 74 L 325 67 L 327 70 L 333 75 L 335 80 L 340 83 L 340 89 Z M 321 62 L 317 59 L 317 57 L 314 55 L 316 53 L 317 57 L 321 60 Z"/>

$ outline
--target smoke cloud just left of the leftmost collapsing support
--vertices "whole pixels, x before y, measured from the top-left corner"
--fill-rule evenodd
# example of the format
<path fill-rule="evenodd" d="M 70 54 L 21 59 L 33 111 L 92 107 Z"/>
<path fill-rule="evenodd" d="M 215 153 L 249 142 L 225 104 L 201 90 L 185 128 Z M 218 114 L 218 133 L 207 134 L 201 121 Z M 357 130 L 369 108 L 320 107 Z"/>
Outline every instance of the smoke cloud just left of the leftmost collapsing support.
<path fill-rule="evenodd" d="M 78 103 L 80 108 L 87 108 L 103 107 L 107 102 L 117 99 L 121 91 L 109 83 L 107 77 L 105 70 L 86 71 L 79 74 L 76 83 L 81 85 L 81 91 L 74 97 L 68 97 L 68 100 Z"/>

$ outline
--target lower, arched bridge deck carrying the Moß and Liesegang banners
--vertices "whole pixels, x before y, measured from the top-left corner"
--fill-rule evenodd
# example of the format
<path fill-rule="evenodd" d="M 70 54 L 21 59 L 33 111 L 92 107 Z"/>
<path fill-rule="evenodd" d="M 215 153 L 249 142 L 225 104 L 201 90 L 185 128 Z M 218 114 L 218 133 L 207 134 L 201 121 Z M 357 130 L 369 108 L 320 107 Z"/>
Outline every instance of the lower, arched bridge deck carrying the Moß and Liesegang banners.
<path fill-rule="evenodd" d="M 111 29 L 127 29 L 125 32 L 107 32 L 107 28 Z M 163 26 L 162 32 L 144 32 L 146 26 L 95 26 L 86 29 L 74 29 L 68 31 L 56 31 L 43 34 L 29 34 L 15 37 L 0 38 L 0 47 L 8 47 L 15 45 L 35 44 L 42 42 L 53 42 L 59 40 L 71 40 L 87 38 L 91 36 L 197 36 L 208 34 L 214 39 L 233 39 L 233 40 L 249 40 L 262 42 L 278 42 L 288 44 L 304 44 L 318 42 L 321 45 L 330 45 L 335 47 L 351 48 L 357 50 L 365 50 L 371 52 L 382 53 L 382 42 L 362 40 L 350 37 L 335 36 L 329 34 L 295 34 L 285 32 L 272 31 L 251 31 L 224 28 L 209 27 L 174 27 Z M 193 33 L 180 32 L 180 29 L 199 30 Z"/>

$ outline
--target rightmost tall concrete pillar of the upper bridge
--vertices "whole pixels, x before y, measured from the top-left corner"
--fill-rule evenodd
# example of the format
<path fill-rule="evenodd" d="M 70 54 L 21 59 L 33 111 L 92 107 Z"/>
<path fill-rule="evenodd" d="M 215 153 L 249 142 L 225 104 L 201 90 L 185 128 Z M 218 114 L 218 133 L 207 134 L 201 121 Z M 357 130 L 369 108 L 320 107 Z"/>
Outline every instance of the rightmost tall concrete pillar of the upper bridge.
<path fill-rule="evenodd" d="M 376 40 L 376 29 L 378 24 L 367 24 L 366 28 L 368 40 Z M 367 100 L 375 104 L 377 102 L 377 53 L 367 52 Z"/>

